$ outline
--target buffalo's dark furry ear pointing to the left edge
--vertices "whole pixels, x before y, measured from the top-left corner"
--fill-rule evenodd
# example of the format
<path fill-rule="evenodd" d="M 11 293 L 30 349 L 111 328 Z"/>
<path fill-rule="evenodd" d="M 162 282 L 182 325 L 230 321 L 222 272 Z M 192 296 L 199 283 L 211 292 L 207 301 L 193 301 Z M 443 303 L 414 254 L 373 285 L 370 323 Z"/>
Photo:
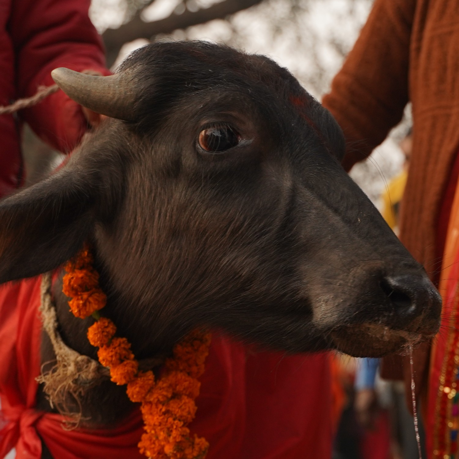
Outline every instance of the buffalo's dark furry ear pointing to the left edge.
<path fill-rule="evenodd" d="M 63 168 L 0 201 L 0 283 L 55 269 L 78 251 L 94 224 L 90 182 Z"/>

